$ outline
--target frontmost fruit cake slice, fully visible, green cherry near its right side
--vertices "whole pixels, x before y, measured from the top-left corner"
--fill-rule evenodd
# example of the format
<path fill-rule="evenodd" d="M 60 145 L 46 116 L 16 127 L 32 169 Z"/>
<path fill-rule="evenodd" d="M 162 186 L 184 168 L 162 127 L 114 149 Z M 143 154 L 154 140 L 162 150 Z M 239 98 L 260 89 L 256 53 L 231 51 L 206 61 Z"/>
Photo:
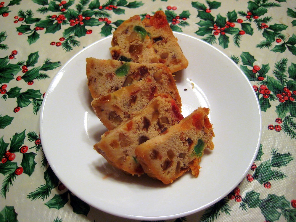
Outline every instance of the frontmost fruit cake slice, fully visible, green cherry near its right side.
<path fill-rule="evenodd" d="M 208 108 L 198 108 L 177 125 L 135 149 L 138 162 L 145 173 L 164 184 L 191 170 L 198 176 L 205 148 L 213 149 L 213 128 Z"/>

